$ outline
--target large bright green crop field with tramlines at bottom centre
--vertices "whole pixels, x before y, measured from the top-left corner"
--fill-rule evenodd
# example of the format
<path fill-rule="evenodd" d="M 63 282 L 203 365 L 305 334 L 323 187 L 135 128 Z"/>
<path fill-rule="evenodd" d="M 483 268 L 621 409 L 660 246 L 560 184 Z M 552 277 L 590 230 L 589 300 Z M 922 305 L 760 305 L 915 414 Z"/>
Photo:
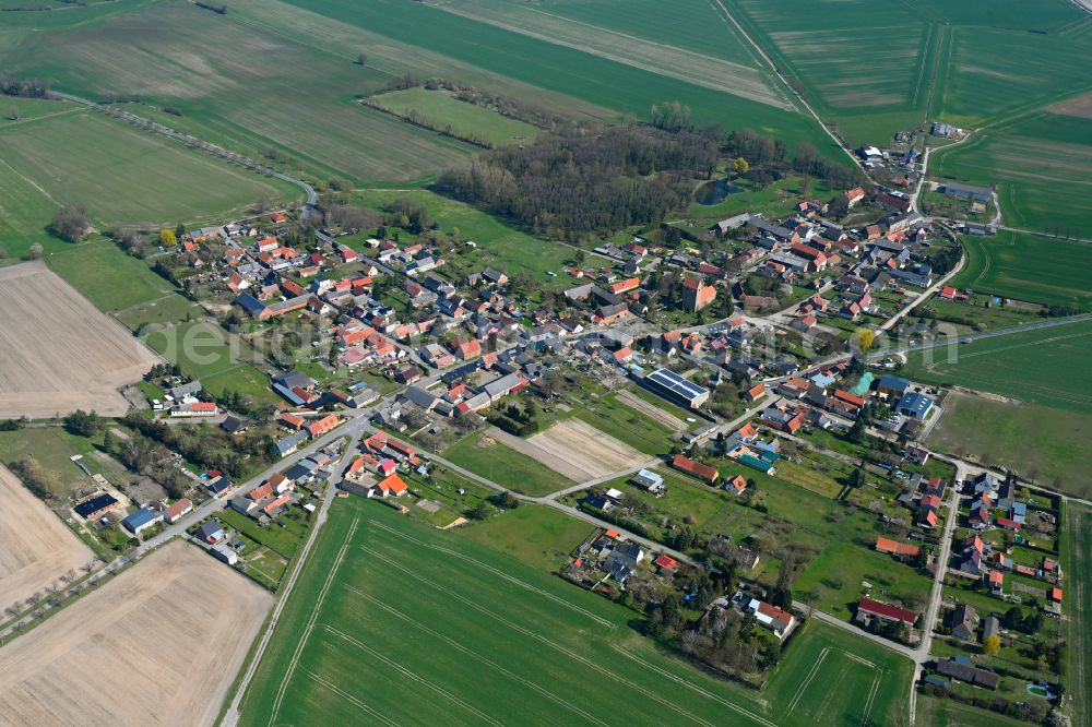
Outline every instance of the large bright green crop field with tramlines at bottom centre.
<path fill-rule="evenodd" d="M 490 548 L 337 501 L 241 704 L 244 725 L 890 724 L 909 662 L 809 625 L 765 693 L 657 652 L 629 611 Z"/>

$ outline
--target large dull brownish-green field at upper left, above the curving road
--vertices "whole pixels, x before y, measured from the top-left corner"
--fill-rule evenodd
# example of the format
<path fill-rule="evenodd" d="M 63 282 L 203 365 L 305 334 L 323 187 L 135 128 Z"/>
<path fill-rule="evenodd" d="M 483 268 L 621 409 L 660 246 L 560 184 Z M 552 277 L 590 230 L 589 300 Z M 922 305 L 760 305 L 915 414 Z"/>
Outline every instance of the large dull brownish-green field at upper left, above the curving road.
<path fill-rule="evenodd" d="M 249 0 L 218 15 L 145 3 L 105 22 L 28 36 L 5 65 L 67 91 L 140 94 L 177 107 L 182 117 L 161 120 L 256 158 L 276 150 L 289 169 L 323 178 L 416 179 L 471 151 L 356 104 L 354 94 L 402 71 L 355 65 L 372 44 L 354 39 L 343 57 L 330 48 L 336 36 L 306 16 L 281 17 L 278 7 Z"/>

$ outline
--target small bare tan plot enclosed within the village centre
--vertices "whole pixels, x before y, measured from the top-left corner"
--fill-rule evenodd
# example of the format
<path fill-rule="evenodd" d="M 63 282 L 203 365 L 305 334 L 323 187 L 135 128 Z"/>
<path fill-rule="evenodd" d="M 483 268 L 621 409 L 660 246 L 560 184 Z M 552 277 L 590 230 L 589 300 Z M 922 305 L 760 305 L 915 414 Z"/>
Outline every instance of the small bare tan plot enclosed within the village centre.
<path fill-rule="evenodd" d="M 505 432 L 496 439 L 578 482 L 637 466 L 649 458 L 580 419 L 558 421 L 526 440 Z"/>

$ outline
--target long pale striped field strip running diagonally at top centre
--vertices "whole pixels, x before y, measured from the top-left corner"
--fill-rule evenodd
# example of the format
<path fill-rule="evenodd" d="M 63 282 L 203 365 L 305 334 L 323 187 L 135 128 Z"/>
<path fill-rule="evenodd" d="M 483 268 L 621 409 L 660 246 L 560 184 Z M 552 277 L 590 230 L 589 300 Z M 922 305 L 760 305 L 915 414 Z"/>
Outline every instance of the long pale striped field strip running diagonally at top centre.
<path fill-rule="evenodd" d="M 506 5 L 502 9 L 490 4 L 489 8 L 479 8 L 475 12 L 463 7 L 463 3 L 458 3 L 456 7 L 456 3 L 449 2 L 435 7 L 468 20 L 598 56 L 642 71 L 722 91 L 768 106 L 796 110 L 791 102 L 774 91 L 772 83 L 763 78 L 761 72 L 741 63 L 652 43 L 534 8 Z"/>

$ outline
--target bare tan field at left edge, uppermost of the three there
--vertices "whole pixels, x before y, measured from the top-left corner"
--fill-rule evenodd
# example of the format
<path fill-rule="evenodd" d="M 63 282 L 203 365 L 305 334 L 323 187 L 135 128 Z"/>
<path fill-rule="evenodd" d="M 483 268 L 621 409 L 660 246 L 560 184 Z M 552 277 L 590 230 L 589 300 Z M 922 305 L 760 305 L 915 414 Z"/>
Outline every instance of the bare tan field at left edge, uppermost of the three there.
<path fill-rule="evenodd" d="M 0 270 L 0 417 L 121 415 L 156 357 L 41 263 Z"/>

